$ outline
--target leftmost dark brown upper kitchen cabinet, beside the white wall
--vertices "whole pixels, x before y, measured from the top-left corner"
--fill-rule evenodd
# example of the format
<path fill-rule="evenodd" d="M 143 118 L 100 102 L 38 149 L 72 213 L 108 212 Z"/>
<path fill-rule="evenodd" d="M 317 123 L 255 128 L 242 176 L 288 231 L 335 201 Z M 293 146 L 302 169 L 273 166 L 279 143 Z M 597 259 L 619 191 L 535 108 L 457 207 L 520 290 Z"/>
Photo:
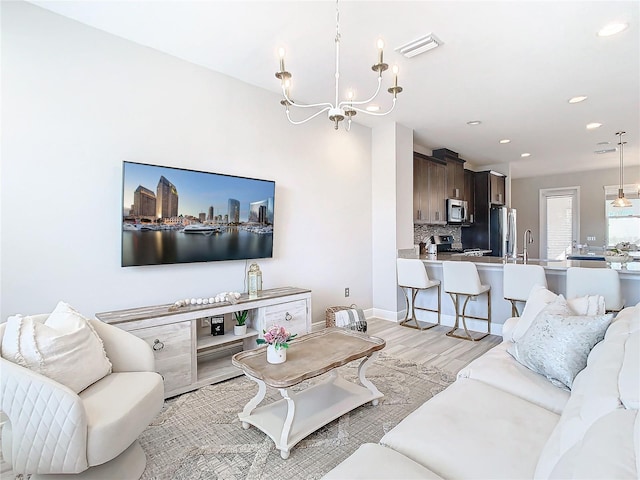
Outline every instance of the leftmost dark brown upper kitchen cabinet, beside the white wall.
<path fill-rule="evenodd" d="M 444 225 L 446 215 L 446 163 L 415 152 L 413 154 L 413 220 Z"/>

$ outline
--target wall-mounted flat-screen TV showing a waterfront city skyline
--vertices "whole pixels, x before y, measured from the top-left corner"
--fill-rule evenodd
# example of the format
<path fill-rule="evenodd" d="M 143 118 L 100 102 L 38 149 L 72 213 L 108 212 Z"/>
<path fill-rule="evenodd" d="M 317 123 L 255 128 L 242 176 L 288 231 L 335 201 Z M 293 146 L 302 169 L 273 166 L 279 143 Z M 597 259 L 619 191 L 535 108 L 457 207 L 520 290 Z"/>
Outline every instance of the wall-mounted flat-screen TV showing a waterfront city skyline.
<path fill-rule="evenodd" d="M 123 162 L 122 266 L 273 256 L 275 182 Z"/>

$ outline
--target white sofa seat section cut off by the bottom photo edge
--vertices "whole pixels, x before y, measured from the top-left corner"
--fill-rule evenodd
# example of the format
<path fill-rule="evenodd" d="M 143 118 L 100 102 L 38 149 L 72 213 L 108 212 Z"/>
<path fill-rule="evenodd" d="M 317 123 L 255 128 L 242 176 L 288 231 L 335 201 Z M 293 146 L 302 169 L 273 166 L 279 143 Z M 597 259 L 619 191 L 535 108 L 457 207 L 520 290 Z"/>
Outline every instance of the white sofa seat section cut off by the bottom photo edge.
<path fill-rule="evenodd" d="M 377 443 L 365 443 L 323 480 L 440 479 L 431 470 Z"/>

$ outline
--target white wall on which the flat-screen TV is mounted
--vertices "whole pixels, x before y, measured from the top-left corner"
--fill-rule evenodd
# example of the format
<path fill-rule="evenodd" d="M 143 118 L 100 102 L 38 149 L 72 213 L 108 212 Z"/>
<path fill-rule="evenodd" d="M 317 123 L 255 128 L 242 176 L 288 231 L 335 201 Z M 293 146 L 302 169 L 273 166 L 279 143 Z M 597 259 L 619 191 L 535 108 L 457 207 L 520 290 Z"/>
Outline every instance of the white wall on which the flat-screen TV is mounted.
<path fill-rule="evenodd" d="M 312 289 L 314 321 L 344 287 L 371 307 L 369 129 L 292 126 L 275 94 L 22 2 L 2 2 L 2 100 L 2 321 L 243 289 L 244 261 L 120 267 L 123 160 L 275 180 L 265 288 Z"/>

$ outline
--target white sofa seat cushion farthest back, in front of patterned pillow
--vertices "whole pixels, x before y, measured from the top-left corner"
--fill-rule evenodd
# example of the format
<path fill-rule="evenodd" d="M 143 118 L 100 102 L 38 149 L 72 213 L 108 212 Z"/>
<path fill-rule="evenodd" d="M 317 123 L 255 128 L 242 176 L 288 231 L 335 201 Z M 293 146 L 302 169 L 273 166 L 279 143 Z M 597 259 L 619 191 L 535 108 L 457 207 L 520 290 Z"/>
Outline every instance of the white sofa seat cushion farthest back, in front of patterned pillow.
<path fill-rule="evenodd" d="M 458 372 L 458 378 L 473 378 L 560 415 L 570 392 L 516 361 L 502 342 Z"/>

